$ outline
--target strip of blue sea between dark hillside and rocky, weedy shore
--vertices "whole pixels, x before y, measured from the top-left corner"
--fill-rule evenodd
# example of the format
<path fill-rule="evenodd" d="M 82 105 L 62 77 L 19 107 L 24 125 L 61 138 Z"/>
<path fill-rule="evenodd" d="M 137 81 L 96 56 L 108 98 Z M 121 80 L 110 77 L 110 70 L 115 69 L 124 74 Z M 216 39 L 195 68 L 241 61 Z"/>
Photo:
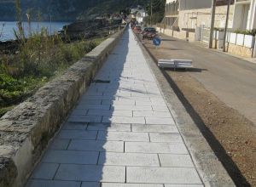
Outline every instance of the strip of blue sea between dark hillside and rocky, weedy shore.
<path fill-rule="evenodd" d="M 32 22 L 32 32 L 41 31 L 42 27 L 46 28 L 49 34 L 54 34 L 60 31 L 63 26 L 70 24 L 70 22 Z M 27 22 L 22 22 L 22 26 L 26 32 L 29 31 Z M 15 39 L 14 29 L 17 30 L 15 21 L 0 21 L 0 41 L 8 41 Z"/>

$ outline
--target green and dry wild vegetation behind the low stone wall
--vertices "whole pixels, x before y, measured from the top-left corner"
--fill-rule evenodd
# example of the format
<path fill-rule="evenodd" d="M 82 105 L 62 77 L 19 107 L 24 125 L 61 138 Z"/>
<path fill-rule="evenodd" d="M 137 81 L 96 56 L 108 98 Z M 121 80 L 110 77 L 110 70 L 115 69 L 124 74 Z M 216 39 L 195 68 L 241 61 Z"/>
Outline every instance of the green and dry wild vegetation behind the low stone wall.
<path fill-rule="evenodd" d="M 19 1 L 16 0 L 18 8 Z M 101 37 L 65 42 L 58 35 L 49 36 L 44 28 L 41 32 L 30 33 L 26 39 L 17 15 L 18 31 L 15 36 L 18 50 L 15 54 L 0 52 L 0 116 L 104 40 Z"/>

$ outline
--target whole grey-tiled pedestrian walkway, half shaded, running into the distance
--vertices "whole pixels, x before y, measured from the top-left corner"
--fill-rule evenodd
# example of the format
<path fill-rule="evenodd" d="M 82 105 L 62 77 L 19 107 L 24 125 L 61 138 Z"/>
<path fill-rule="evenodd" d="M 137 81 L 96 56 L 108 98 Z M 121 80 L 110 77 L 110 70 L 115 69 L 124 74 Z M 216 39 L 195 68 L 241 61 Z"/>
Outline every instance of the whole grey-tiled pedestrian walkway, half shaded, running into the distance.
<path fill-rule="evenodd" d="M 131 30 L 26 184 L 43 186 L 203 186 Z"/>

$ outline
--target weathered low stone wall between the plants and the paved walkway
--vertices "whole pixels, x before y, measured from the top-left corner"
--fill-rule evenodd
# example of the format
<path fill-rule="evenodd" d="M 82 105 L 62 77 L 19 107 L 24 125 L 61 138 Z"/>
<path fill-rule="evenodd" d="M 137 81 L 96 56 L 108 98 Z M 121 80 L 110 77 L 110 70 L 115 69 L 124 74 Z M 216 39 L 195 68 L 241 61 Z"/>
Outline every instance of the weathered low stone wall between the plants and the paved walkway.
<path fill-rule="evenodd" d="M 125 29 L 0 119 L 0 187 L 21 187 Z"/>

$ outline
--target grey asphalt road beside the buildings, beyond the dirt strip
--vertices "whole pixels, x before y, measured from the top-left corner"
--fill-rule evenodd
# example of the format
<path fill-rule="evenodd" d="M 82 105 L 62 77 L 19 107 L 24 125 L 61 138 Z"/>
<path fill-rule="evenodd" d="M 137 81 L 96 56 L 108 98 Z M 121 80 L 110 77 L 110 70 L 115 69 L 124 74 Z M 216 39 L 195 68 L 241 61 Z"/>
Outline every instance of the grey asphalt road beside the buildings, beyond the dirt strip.
<path fill-rule="evenodd" d="M 256 64 L 199 44 L 162 38 L 160 48 L 155 50 L 172 59 L 192 59 L 195 69 L 188 71 L 190 76 L 256 125 Z"/>

